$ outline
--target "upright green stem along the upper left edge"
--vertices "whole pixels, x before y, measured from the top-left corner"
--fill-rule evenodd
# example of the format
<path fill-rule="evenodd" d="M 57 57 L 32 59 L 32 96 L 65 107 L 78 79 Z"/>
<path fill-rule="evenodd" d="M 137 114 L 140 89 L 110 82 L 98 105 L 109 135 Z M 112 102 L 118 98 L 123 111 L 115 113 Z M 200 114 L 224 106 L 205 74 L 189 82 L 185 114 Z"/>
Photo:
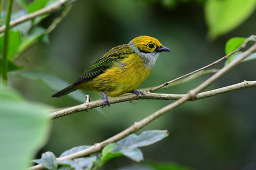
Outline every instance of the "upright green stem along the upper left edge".
<path fill-rule="evenodd" d="M 11 19 L 11 8 L 13 7 L 13 0 L 8 1 L 8 10 L 6 16 L 6 29 L 5 29 L 5 37 L 3 40 L 3 63 L 2 63 L 2 75 L 3 75 L 3 83 L 7 85 L 7 69 L 8 69 L 8 46 L 9 46 L 9 29 L 10 29 L 10 19 Z"/>

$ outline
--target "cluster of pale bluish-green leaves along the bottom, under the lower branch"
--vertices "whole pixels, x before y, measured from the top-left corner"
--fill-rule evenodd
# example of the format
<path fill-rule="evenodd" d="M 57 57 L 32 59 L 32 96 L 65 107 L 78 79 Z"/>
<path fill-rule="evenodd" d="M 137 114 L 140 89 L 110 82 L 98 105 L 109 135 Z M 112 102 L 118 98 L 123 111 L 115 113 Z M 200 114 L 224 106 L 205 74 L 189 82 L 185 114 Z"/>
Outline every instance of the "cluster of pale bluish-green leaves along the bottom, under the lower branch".
<path fill-rule="evenodd" d="M 98 169 L 108 160 L 118 156 L 126 156 L 127 158 L 130 158 L 136 162 L 141 162 L 143 160 L 143 154 L 138 147 L 152 145 L 153 143 L 158 142 L 167 136 L 168 133 L 165 130 L 144 131 L 139 136 L 130 134 L 116 143 L 110 143 L 109 145 L 105 146 L 101 154 L 98 154 L 97 156 L 86 156 L 84 158 L 59 161 L 56 160 L 56 156 L 52 152 L 46 152 L 42 154 L 41 159 L 35 159 L 33 162 L 42 164 L 49 170 L 72 168 L 77 170 Z M 71 150 L 63 152 L 63 154 L 60 155 L 60 158 L 63 156 L 76 154 L 76 152 L 85 150 L 89 147 L 90 146 L 79 146 L 71 148 Z"/>

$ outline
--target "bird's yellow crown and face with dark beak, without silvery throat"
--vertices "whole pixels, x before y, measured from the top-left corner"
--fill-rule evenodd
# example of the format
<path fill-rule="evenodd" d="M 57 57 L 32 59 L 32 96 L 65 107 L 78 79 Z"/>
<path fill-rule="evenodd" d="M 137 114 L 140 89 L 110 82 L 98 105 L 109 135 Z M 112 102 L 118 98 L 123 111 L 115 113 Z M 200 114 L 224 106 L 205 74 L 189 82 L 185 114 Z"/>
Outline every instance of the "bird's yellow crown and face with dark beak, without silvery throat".
<path fill-rule="evenodd" d="M 163 46 L 157 39 L 150 36 L 139 36 L 131 40 L 130 44 L 134 46 L 143 53 L 152 52 L 170 52 L 171 50 Z"/>

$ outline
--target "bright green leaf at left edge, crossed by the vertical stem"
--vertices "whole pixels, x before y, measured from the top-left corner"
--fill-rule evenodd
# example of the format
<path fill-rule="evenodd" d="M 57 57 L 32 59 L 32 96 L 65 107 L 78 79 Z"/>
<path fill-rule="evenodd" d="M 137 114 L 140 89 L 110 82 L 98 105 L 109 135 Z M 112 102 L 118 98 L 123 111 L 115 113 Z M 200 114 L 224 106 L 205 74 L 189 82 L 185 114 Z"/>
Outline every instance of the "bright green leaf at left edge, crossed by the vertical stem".
<path fill-rule="evenodd" d="M 0 37 L 0 49 L 1 49 L 1 56 L 3 56 L 3 40 L 5 35 Z M 8 53 L 7 59 L 10 61 L 13 58 L 16 50 L 18 49 L 21 43 L 20 31 L 13 31 L 10 29 L 9 31 L 9 45 L 8 45 Z"/>

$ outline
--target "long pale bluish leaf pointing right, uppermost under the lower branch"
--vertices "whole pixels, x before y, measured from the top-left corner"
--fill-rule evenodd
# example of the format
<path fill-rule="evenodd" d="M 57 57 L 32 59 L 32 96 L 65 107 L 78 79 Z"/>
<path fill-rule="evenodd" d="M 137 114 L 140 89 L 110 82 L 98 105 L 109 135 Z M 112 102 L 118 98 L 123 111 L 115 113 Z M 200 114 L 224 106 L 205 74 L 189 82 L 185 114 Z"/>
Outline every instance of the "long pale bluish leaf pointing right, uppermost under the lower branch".
<path fill-rule="evenodd" d="M 155 142 L 162 140 L 168 136 L 168 132 L 165 130 L 148 130 L 143 131 L 139 136 L 130 134 L 129 136 L 121 139 L 117 142 L 117 146 L 112 152 L 118 152 L 123 149 L 133 149 L 142 146 L 148 146 Z"/>

